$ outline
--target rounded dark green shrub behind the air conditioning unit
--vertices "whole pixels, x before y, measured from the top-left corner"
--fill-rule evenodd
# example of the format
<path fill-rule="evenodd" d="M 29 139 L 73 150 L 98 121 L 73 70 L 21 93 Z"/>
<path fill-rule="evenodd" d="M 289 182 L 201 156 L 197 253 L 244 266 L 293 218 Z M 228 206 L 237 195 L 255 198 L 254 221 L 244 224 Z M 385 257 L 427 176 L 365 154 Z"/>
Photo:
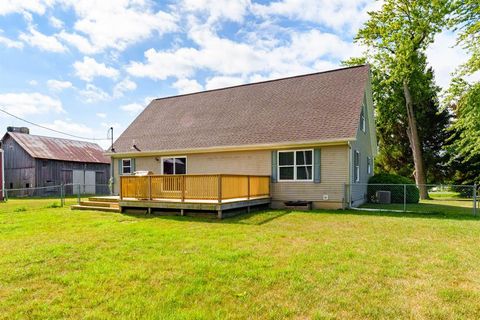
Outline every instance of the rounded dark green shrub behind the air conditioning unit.
<path fill-rule="evenodd" d="M 407 203 L 418 203 L 420 193 L 417 186 L 414 185 L 415 182 L 408 178 L 389 173 L 376 174 L 368 180 L 368 200 L 374 202 L 377 191 L 390 191 L 392 203 L 403 203 L 404 184 L 407 185 Z"/>

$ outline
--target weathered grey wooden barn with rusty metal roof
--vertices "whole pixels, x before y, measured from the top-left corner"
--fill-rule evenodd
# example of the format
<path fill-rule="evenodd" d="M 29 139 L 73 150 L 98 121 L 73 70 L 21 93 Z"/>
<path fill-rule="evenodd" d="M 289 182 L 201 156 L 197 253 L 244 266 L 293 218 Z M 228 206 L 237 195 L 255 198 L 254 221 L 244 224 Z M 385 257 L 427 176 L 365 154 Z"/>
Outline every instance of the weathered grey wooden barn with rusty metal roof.
<path fill-rule="evenodd" d="M 108 192 L 110 161 L 95 143 L 29 134 L 28 128 L 8 127 L 2 138 L 5 158 L 6 189 L 22 195 L 58 193 L 54 186 L 69 185 L 67 194 L 78 192 L 72 184 L 82 185 L 85 193 Z"/>

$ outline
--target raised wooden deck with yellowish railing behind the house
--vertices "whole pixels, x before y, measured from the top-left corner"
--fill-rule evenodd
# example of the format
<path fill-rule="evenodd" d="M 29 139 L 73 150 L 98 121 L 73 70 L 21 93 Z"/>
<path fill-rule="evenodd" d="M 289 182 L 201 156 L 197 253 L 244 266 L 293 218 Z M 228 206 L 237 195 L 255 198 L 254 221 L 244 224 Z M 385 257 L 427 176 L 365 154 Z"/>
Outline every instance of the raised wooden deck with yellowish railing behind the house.
<path fill-rule="evenodd" d="M 270 203 L 270 177 L 249 175 L 149 175 L 122 176 L 120 210 L 147 208 L 215 211 Z"/>

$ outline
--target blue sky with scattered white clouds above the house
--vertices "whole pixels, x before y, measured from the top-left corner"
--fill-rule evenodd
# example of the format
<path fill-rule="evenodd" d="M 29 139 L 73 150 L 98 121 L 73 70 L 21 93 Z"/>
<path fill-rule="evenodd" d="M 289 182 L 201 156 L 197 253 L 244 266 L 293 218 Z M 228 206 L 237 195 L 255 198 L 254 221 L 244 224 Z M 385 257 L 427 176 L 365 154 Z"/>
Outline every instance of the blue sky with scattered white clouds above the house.
<path fill-rule="evenodd" d="M 370 0 L 2 0 L 0 108 L 85 137 L 118 136 L 156 97 L 333 69 Z M 437 36 L 445 87 L 465 61 Z M 0 127 L 25 125 L 0 115 Z M 33 134 L 61 136 L 31 128 Z M 103 147 L 108 142 L 100 143 Z"/>

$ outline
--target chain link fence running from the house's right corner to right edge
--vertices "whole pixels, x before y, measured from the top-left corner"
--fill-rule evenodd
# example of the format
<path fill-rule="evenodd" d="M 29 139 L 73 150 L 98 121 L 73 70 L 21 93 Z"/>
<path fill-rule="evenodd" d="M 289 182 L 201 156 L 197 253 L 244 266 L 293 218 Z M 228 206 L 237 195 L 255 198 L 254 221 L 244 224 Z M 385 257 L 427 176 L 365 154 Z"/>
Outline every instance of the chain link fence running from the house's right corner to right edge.
<path fill-rule="evenodd" d="M 428 192 L 420 198 L 420 187 Z M 347 184 L 345 207 L 359 210 L 478 215 L 477 185 Z"/>

